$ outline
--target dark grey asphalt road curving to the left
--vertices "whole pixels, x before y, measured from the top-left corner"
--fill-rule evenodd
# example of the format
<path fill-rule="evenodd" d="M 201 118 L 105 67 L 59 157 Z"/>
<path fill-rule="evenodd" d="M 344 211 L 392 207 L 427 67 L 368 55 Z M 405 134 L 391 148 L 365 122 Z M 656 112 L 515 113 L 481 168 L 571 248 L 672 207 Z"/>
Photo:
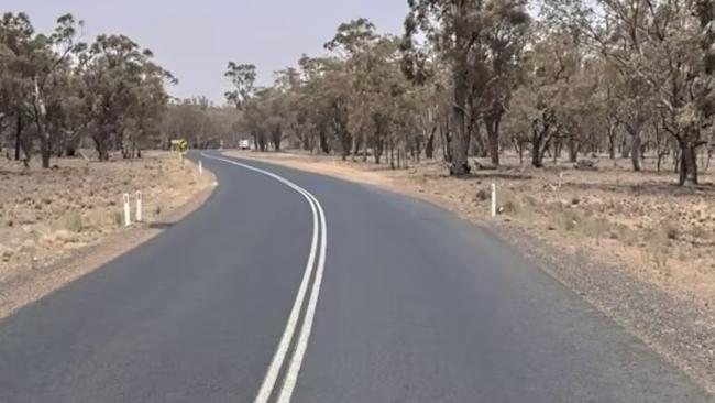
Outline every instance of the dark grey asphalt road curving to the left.
<path fill-rule="evenodd" d="M 201 159 L 201 209 L 0 322 L 0 402 L 710 401 L 442 209 Z"/>

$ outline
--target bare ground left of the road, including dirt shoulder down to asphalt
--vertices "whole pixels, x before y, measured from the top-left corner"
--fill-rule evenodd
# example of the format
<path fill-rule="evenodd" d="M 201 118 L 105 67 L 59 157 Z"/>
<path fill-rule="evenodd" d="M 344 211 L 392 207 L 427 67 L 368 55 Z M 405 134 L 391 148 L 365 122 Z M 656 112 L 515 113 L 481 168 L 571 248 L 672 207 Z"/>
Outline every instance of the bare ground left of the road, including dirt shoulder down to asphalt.
<path fill-rule="evenodd" d="M 199 207 L 216 184 L 174 153 L 56 164 L 43 171 L 0 161 L 0 318 L 154 237 Z M 125 228 L 122 195 L 136 190 L 143 222 Z M 134 220 L 134 200 L 131 207 Z"/>

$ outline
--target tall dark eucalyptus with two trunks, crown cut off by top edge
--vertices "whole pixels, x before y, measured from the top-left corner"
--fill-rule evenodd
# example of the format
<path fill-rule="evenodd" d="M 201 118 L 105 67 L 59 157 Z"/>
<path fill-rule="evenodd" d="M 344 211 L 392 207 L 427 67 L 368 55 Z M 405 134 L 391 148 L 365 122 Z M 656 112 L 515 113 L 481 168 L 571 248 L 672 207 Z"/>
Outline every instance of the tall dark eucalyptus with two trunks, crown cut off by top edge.
<path fill-rule="evenodd" d="M 475 109 L 481 112 L 476 106 L 484 100 L 482 97 L 491 95 L 492 101 L 485 105 L 486 116 L 492 139 L 498 137 L 498 121 L 508 98 L 502 92 L 508 85 L 501 78 L 507 75 L 507 66 L 522 46 L 524 26 L 529 20 L 526 2 L 409 0 L 408 3 L 405 47 L 410 47 L 421 33 L 450 69 L 453 89 L 450 172 L 463 175 L 470 172 L 468 152 L 473 126 L 470 123 L 477 119 Z M 498 163 L 497 143 L 493 143 L 493 160 Z"/>

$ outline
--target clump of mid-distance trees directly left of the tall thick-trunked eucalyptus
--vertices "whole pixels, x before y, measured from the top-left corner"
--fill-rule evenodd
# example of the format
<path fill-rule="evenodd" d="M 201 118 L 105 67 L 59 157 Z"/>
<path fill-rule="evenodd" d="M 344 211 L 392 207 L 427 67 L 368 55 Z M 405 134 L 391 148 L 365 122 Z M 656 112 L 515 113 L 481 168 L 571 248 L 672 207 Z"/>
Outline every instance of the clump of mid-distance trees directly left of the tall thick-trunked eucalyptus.
<path fill-rule="evenodd" d="M 402 73 L 399 39 L 359 19 L 341 24 L 326 48 L 327 57 L 304 55 L 242 104 L 243 129 L 256 146 L 280 150 L 292 139 L 294 146 L 377 163 L 387 153 L 395 167 L 405 165 L 406 150 L 420 153 L 421 118 L 433 118 L 426 117 L 427 91 Z"/>

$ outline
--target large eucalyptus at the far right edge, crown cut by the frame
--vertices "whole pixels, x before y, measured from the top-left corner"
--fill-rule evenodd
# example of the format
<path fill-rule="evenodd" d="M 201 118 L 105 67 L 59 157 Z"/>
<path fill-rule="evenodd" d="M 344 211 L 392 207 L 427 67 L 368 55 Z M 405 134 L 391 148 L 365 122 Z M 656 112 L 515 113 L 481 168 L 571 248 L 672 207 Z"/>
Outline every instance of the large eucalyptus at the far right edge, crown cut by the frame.
<path fill-rule="evenodd" d="M 622 123 L 634 139 L 651 119 L 679 146 L 680 184 L 697 183 L 697 149 L 712 138 L 715 56 L 710 0 L 547 2 L 551 19 L 579 30 L 584 43 L 609 61 L 625 84 Z M 594 7 L 595 6 L 595 7 Z"/>

